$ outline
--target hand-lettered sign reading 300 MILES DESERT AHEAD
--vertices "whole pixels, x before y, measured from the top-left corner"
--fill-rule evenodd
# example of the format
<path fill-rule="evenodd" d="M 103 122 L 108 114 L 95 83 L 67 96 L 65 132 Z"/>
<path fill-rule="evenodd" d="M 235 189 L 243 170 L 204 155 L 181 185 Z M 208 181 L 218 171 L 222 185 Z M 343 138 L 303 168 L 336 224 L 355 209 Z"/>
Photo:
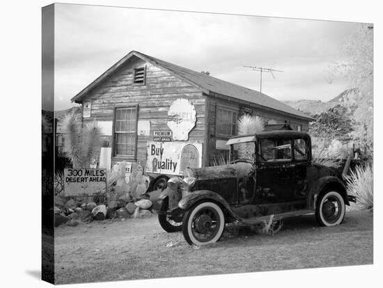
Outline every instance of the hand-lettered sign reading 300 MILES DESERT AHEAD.
<path fill-rule="evenodd" d="M 107 188 L 107 169 L 65 168 L 65 195 L 93 195 Z"/>

